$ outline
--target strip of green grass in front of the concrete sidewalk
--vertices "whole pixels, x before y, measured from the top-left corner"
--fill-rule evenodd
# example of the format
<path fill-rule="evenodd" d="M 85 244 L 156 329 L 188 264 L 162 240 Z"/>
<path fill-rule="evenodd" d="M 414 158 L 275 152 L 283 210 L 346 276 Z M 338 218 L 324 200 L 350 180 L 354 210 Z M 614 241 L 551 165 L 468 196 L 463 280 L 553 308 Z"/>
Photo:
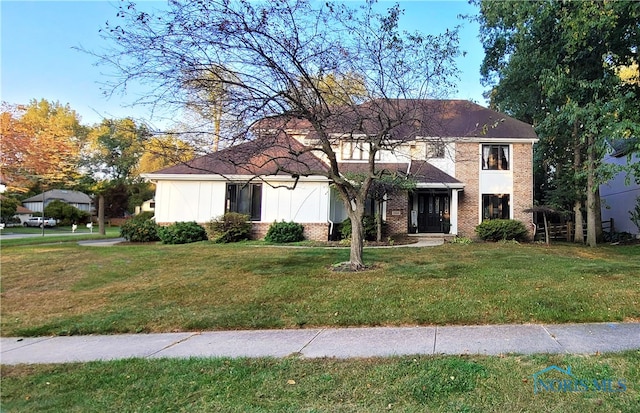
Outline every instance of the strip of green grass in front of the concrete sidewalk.
<path fill-rule="evenodd" d="M 578 379 L 589 382 L 623 380 L 627 388 L 535 394 L 533 374 L 551 365 L 570 366 Z M 131 359 L 1 369 L 4 412 L 640 411 L 640 351 L 354 360 Z"/>

